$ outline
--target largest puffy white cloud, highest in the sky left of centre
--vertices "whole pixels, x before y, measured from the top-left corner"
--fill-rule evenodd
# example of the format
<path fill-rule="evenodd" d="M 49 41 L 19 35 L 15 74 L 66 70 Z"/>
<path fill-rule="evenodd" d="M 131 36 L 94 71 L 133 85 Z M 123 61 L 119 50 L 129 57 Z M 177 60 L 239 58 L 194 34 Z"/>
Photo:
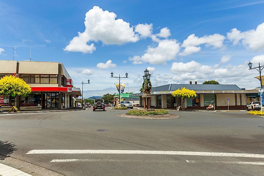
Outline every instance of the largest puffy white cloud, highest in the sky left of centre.
<path fill-rule="evenodd" d="M 87 44 L 91 41 L 102 41 L 106 45 L 137 42 L 139 37 L 133 31 L 133 27 L 116 17 L 115 13 L 94 6 L 85 15 L 85 31 L 78 32 L 78 36 L 72 38 L 64 51 L 92 53 L 96 47 L 94 43 Z"/>

